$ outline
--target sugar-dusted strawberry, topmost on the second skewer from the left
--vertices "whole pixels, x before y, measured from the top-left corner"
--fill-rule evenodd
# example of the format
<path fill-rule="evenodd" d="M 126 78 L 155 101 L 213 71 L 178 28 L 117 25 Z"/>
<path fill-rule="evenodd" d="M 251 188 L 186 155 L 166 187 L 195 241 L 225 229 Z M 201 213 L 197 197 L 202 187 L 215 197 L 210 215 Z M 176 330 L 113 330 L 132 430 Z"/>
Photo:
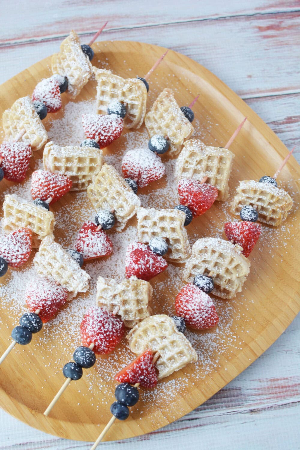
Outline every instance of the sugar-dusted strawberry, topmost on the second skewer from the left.
<path fill-rule="evenodd" d="M 82 114 L 82 125 L 89 139 L 99 138 L 100 148 L 107 147 L 120 137 L 123 131 L 123 119 L 115 114 L 102 116 L 99 114 Z"/>

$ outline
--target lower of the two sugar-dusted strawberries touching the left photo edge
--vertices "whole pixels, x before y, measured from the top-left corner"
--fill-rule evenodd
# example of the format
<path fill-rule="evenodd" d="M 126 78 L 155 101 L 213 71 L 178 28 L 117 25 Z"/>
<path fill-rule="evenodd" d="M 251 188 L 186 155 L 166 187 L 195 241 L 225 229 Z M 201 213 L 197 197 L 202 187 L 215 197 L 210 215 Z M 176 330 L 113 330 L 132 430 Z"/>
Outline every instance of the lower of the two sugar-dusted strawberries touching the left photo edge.
<path fill-rule="evenodd" d="M 9 234 L 0 236 L 0 256 L 11 267 L 20 267 L 31 254 L 31 230 L 19 228 Z"/>

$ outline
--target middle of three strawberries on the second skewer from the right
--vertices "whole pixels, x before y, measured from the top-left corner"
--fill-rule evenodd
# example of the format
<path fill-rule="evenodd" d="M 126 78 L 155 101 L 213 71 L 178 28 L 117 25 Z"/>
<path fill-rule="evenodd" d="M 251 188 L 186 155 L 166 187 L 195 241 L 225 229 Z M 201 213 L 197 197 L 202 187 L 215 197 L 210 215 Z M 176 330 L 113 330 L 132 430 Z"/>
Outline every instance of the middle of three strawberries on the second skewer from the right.
<path fill-rule="evenodd" d="M 148 245 L 133 242 L 128 245 L 125 256 L 126 278 L 135 275 L 137 278 L 149 281 L 168 267 L 167 261 L 152 252 Z"/>

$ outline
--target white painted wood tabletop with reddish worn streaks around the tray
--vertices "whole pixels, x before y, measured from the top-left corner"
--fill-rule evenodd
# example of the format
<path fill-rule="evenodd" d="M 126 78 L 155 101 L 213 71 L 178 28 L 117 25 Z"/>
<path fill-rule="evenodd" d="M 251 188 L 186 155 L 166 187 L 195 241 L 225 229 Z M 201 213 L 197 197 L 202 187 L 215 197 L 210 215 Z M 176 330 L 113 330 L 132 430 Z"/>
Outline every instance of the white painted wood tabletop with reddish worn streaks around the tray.
<path fill-rule="evenodd" d="M 152 2 L 153 3 L 153 2 Z M 299 0 L 0 0 L 0 82 L 57 51 L 74 28 L 86 40 L 104 21 L 103 40 L 139 40 L 203 64 L 300 151 Z M 207 3 L 207 4 L 206 4 Z M 296 154 L 299 161 L 300 153 Z M 299 449 L 300 315 L 245 372 L 192 413 L 124 450 Z M 0 410 L 0 450 L 78 449 Z M 117 449 L 120 442 L 103 443 Z"/>

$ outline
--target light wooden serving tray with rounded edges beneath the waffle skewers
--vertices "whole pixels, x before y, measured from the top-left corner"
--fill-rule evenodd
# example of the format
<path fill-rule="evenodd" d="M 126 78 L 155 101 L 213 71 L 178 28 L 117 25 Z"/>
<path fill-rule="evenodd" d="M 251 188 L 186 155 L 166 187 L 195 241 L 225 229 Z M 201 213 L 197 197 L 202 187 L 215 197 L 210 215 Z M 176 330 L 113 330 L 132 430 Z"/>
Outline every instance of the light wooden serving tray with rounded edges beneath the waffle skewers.
<path fill-rule="evenodd" d="M 166 50 L 130 41 L 97 42 L 93 48 L 95 66 L 110 68 L 124 77 L 143 76 Z M 51 75 L 50 59 L 45 58 L 0 86 L 1 114 L 19 97 L 31 95 L 36 83 Z M 63 136 L 64 129 L 58 132 L 58 119 L 62 119 L 63 127 L 67 127 L 66 117 L 69 117 L 72 127 L 71 121 L 78 120 L 77 116 L 80 116 L 77 109 L 85 105 L 86 112 L 89 105 L 92 107 L 95 86 L 95 81 L 90 81 L 72 105 L 66 94 L 62 94 L 63 108 L 57 114 L 49 114 L 44 121 L 46 129 L 51 130 L 51 139 Z M 286 156 L 287 148 L 242 99 L 205 67 L 186 56 L 169 51 L 152 76 L 148 107 L 165 87 L 175 90 L 179 105 L 189 104 L 200 94 L 193 108 L 193 125 L 196 128 L 194 137 L 202 139 L 206 144 L 224 145 L 243 117 L 248 117 L 230 148 L 235 153 L 235 159 L 229 200 L 216 202 L 205 215 L 188 225 L 191 243 L 199 237 L 222 236 L 224 222 L 234 219 L 228 212 L 229 201 L 234 195 L 238 180 L 258 180 L 262 175 L 273 175 Z M 82 103 L 84 100 L 86 102 Z M 95 111 L 91 109 L 90 112 Z M 76 133 L 74 131 L 74 144 L 78 144 Z M 72 135 L 67 136 L 66 132 L 65 144 L 69 144 L 67 140 L 70 139 L 72 140 Z M 105 149 L 104 153 L 110 155 L 109 162 L 116 161 L 118 166 L 121 155 L 126 150 L 134 145 L 147 145 L 147 139 L 144 126 L 136 131 L 124 130 L 121 138 Z M 34 153 L 30 173 L 41 166 L 41 157 L 42 151 Z M 167 181 L 162 179 L 139 190 L 143 205 L 175 206 L 176 189 L 171 179 L 174 164 L 166 162 L 166 165 Z M 116 422 L 107 433 L 107 440 L 151 432 L 201 405 L 246 369 L 294 319 L 300 310 L 297 293 L 300 263 L 300 246 L 297 240 L 300 216 L 297 199 L 299 174 L 299 165 L 291 157 L 280 175 L 279 186 L 290 193 L 295 201 L 294 208 L 284 224 L 277 229 L 262 225 L 261 239 L 249 257 L 251 273 L 242 293 L 231 301 L 215 298 L 220 316 L 219 326 L 206 332 L 187 333 L 198 352 L 198 363 L 188 365 L 162 380 L 151 392 L 141 390 L 141 400 L 131 408 L 130 418 L 124 422 Z M 28 180 L 23 186 L 3 180 L 0 184 L 1 204 L 5 193 L 17 192 L 28 198 L 29 186 Z M 57 218 L 56 240 L 68 246 L 72 245 L 72 239 L 83 220 L 93 214 L 85 193 L 68 193 L 53 205 L 52 210 Z M 132 219 L 121 234 L 113 230 L 110 233 L 115 256 L 106 261 L 85 264 L 85 270 L 92 276 L 92 293 L 77 296 L 56 319 L 34 335 L 30 345 L 16 346 L 0 366 L 1 407 L 32 427 L 59 437 L 92 441 L 110 419 L 109 405 L 114 401 L 116 387 L 113 375 L 133 358 L 125 339 L 110 356 L 98 357 L 96 365 L 85 371 L 81 380 L 71 383 L 49 418 L 43 416 L 43 411 L 64 381 L 61 368 L 72 360 L 73 351 L 80 345 L 79 324 L 86 308 L 94 302 L 97 275 L 107 276 L 108 272 L 111 277 L 122 277 L 120 268 L 124 270 L 125 248 L 124 245 L 122 247 L 122 235 L 128 241 L 132 237 L 134 239 L 135 225 L 136 220 Z M 20 270 L 9 269 L 7 275 L 0 280 L 0 353 L 11 341 L 11 330 L 25 311 L 22 296 L 24 284 L 33 273 L 32 257 L 26 267 Z M 154 289 L 152 307 L 155 313 L 174 313 L 175 296 L 184 284 L 180 280 L 181 270 L 180 266 L 170 265 L 165 273 L 151 280 Z"/>

